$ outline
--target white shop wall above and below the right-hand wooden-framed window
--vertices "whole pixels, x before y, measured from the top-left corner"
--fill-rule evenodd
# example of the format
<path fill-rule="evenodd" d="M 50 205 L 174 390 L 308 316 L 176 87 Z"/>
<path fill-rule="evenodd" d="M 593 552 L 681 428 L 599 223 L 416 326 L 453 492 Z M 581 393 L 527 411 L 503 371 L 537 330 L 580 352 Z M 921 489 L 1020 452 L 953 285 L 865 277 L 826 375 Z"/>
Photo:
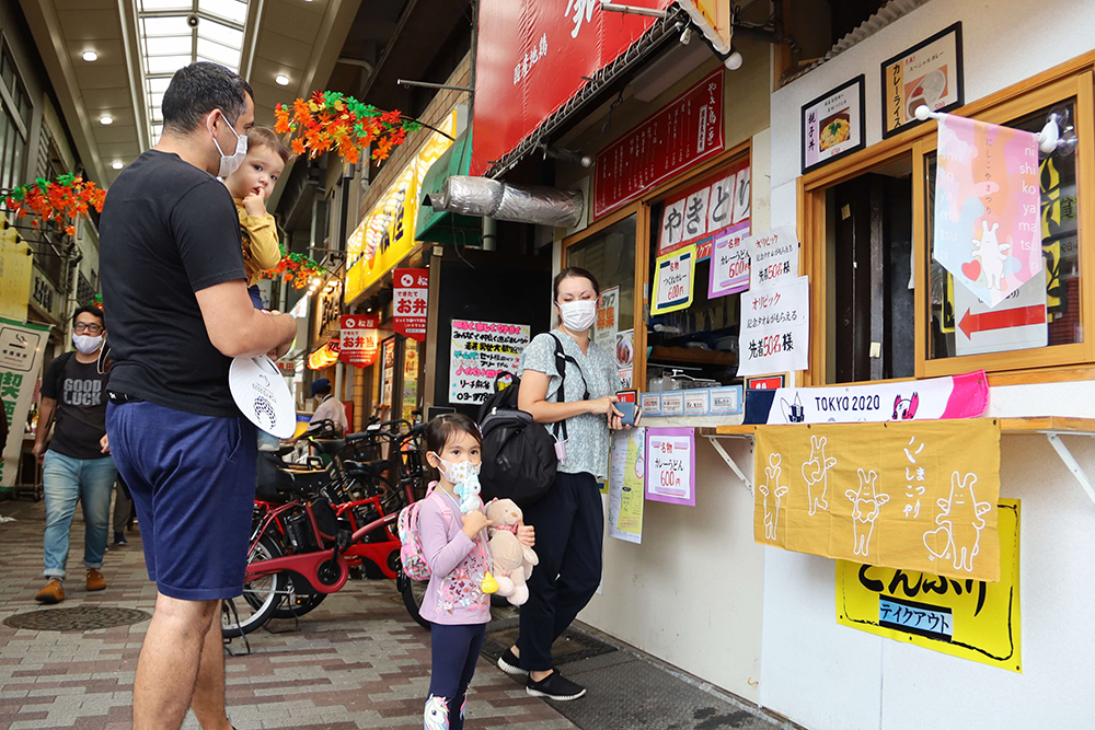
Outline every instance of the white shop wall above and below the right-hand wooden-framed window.
<path fill-rule="evenodd" d="M 867 143 L 881 137 L 879 63 L 963 22 L 966 101 L 1092 49 L 1095 3 L 933 0 L 772 96 L 772 222 L 796 222 L 800 107 L 866 74 Z M 839 163 L 838 163 L 839 164 Z M 1095 382 L 992 389 L 990 415 L 1095 415 Z M 1095 475 L 1095 439 L 1065 438 Z M 1001 496 L 1023 500 L 1023 674 L 837 624 L 833 561 L 764 548 L 760 704 L 811 730 L 1088 728 L 1095 695 L 1095 505 L 1044 436 L 1004 436 Z"/>

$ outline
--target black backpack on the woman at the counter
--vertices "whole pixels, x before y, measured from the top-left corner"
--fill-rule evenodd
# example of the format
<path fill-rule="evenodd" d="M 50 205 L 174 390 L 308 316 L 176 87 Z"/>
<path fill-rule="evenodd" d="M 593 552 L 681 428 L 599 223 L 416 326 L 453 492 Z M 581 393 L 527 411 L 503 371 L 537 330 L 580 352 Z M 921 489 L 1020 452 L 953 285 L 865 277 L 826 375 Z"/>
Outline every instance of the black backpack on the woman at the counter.
<path fill-rule="evenodd" d="M 561 378 L 556 402 L 563 403 L 566 363 L 578 363 L 563 352 L 563 343 L 558 337 L 552 334 L 552 339 L 555 340 L 555 369 Z M 517 394 L 521 387 L 520 379 L 515 376 L 504 390 L 497 387 L 496 380 L 496 392 L 483 403 L 479 414 L 483 433 L 482 497 L 484 501 L 512 499 L 519 507 L 525 507 L 543 497 L 555 484 L 558 466 L 555 441 L 560 432 L 562 440 L 566 441 L 566 422 L 554 424 L 552 436 L 542 424 L 532 420 L 531 414 L 519 409 Z"/>

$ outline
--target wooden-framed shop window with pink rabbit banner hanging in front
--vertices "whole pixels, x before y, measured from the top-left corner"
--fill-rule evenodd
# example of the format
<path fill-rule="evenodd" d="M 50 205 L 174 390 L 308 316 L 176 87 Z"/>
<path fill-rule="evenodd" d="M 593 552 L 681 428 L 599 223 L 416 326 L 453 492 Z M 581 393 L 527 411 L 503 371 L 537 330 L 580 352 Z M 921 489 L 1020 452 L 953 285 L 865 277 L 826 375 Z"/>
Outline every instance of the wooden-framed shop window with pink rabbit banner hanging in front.
<path fill-rule="evenodd" d="M 1095 202 L 1095 74 L 1091 63 L 1073 69 L 956 112 L 1033 132 L 1054 118 L 1070 140 L 1038 159 L 1036 239 L 1045 268 L 995 306 L 934 260 L 935 124 L 800 179 L 803 270 L 811 300 L 806 384 L 982 369 L 1006 373 L 1008 382 L 1033 382 L 1050 376 L 1036 370 L 1095 361 L 1095 338 L 1084 337 L 1085 321 L 1095 320 L 1095 283 L 1087 274 L 1095 256 L 1080 224 L 1084 207 Z M 981 267 L 970 264 L 969 270 Z"/>

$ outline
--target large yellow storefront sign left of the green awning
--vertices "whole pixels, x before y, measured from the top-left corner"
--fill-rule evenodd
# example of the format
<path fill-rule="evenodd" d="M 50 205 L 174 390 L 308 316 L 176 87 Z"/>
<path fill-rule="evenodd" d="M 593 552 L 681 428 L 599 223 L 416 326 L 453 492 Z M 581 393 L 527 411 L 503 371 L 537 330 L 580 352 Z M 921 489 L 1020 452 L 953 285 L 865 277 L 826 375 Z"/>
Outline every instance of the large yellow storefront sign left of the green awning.
<path fill-rule="evenodd" d="M 456 137 L 457 112 L 453 111 L 438 129 Z M 418 192 L 430 165 L 452 146 L 452 140 L 445 135 L 434 132 L 429 137 L 346 240 L 347 304 L 414 251 Z"/>

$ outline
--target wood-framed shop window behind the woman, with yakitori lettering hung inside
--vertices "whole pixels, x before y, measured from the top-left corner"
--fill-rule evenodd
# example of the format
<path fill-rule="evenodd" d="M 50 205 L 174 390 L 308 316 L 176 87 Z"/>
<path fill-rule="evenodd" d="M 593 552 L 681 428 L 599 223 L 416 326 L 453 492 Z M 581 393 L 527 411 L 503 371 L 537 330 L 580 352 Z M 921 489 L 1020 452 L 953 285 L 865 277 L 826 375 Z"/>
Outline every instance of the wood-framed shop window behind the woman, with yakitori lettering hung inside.
<path fill-rule="evenodd" d="M 601 285 L 593 340 L 615 350 L 625 387 L 643 392 L 714 387 L 737 378 L 737 290 L 712 296 L 716 242 L 751 234 L 748 146 L 682 175 L 647 199 L 610 213 L 564 241 L 564 265 L 586 268 Z M 701 259 L 688 308 L 652 314 L 658 258 L 694 247 Z"/>

